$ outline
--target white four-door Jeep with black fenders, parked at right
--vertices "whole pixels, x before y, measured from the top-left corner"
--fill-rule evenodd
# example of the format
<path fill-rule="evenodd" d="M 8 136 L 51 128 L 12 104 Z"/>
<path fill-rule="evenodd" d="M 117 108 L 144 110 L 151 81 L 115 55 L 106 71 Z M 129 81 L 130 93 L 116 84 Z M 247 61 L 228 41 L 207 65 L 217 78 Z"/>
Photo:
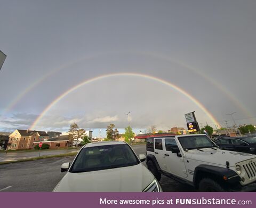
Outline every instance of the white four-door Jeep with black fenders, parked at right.
<path fill-rule="evenodd" d="M 205 134 L 147 139 L 148 169 L 199 191 L 256 190 L 256 155 L 221 150 Z"/>

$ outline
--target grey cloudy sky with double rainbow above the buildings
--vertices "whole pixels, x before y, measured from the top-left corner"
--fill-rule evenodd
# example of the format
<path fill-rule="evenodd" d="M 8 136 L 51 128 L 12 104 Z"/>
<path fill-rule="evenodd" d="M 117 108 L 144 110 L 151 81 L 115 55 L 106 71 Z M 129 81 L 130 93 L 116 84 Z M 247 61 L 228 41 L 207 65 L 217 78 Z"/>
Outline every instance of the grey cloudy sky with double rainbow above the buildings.
<path fill-rule="evenodd" d="M 256 1 L 0 2 L 0 131 L 256 124 Z"/>

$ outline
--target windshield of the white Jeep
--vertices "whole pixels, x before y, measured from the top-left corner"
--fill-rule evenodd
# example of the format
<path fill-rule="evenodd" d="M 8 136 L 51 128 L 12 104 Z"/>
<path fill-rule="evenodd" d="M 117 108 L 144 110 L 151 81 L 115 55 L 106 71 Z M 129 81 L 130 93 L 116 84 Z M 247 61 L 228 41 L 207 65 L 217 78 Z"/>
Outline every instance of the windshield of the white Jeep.
<path fill-rule="evenodd" d="M 204 135 L 180 137 L 179 141 L 184 150 L 216 147 L 211 139 Z"/>

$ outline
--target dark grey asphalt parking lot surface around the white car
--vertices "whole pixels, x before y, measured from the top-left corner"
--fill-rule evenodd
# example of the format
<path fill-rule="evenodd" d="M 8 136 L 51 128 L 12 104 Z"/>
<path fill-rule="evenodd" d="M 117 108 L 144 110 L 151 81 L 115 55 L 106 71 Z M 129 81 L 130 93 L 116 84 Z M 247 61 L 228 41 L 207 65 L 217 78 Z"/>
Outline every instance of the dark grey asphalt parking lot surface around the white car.
<path fill-rule="evenodd" d="M 137 155 L 146 153 L 145 145 L 132 146 L 132 148 Z M 0 165 L 0 191 L 52 191 L 66 174 L 60 172 L 61 164 L 72 162 L 74 157 L 45 158 Z M 164 175 L 160 183 L 164 191 L 195 191 L 193 187 L 183 185 Z"/>

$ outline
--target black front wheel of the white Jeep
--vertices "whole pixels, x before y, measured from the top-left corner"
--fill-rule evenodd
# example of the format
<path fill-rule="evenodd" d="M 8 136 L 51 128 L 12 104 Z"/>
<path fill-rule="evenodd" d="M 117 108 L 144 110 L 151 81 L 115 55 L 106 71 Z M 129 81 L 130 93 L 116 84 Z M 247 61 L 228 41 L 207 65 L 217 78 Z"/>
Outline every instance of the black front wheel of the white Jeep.
<path fill-rule="evenodd" d="M 226 191 L 223 187 L 216 181 L 210 178 L 204 178 L 199 182 L 199 191 L 202 192 L 223 192 Z"/>

